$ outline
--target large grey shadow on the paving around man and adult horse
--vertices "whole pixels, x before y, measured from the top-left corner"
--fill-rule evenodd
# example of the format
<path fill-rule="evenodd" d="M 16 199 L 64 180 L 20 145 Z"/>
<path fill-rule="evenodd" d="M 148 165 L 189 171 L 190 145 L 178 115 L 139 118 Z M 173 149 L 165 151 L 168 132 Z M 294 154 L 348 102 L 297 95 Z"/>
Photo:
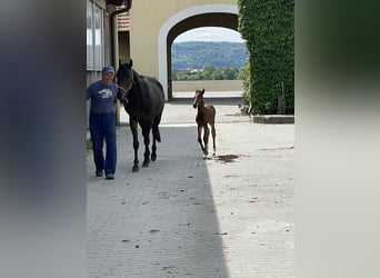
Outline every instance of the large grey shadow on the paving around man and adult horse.
<path fill-rule="evenodd" d="M 129 128 L 118 130 L 113 181 L 94 178 L 88 156 L 88 277 L 229 277 L 197 129 L 160 132 L 158 160 L 132 172 Z"/>

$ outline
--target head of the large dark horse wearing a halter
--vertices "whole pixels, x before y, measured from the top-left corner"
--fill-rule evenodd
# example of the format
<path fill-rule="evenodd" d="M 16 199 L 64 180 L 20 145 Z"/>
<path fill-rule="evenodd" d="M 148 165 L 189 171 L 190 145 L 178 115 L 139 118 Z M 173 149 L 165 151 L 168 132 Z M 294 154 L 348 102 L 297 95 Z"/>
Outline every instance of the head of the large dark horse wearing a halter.
<path fill-rule="evenodd" d="M 133 70 L 132 70 L 133 61 L 130 60 L 129 63 L 121 63 L 119 60 L 119 69 L 117 71 L 117 80 L 118 80 L 118 99 L 120 101 L 128 101 L 128 92 L 133 86 Z"/>

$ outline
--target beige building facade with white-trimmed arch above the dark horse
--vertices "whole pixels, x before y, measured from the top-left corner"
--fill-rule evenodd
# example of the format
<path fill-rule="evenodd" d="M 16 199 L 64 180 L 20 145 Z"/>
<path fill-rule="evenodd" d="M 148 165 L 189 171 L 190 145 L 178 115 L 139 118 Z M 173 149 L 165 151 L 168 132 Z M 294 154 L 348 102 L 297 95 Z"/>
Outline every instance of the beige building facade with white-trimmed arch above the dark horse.
<path fill-rule="evenodd" d="M 171 98 L 171 44 L 193 28 L 238 30 L 237 0 L 138 0 L 130 17 L 130 58 L 141 75 L 153 76 Z"/>

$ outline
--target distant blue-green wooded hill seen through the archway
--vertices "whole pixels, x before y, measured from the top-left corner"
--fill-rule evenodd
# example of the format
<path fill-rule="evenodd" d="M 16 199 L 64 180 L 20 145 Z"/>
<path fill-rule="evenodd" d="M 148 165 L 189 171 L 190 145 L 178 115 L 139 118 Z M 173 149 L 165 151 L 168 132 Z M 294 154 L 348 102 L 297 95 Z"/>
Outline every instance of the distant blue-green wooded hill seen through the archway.
<path fill-rule="evenodd" d="M 188 41 L 171 48 L 171 67 L 174 70 L 202 69 L 210 63 L 218 68 L 241 68 L 246 64 L 244 42 Z"/>

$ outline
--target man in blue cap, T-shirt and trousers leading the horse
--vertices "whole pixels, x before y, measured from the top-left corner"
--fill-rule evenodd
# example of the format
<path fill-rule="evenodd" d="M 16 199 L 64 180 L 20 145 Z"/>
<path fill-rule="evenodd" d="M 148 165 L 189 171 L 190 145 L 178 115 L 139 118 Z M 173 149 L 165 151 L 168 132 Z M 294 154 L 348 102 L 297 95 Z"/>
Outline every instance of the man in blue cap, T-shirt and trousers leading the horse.
<path fill-rule="evenodd" d="M 114 179 L 117 166 L 116 110 L 118 86 L 113 82 L 114 69 L 107 66 L 102 69 L 101 80 L 87 88 L 87 99 L 91 99 L 90 135 L 96 165 L 96 176 Z M 106 139 L 106 159 L 103 142 Z"/>

